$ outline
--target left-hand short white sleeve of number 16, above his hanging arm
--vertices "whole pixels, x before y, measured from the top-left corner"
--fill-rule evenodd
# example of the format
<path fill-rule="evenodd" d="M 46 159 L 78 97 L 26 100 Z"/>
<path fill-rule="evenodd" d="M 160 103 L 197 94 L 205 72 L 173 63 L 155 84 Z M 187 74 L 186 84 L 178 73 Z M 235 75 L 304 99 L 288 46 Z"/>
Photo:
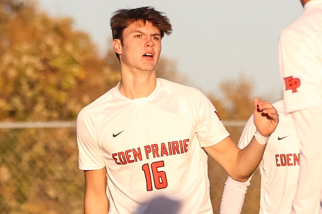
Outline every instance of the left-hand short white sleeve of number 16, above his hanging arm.
<path fill-rule="evenodd" d="M 105 166 L 103 152 L 99 148 L 93 120 L 84 109 L 77 116 L 76 133 L 79 169 L 102 169 Z"/>

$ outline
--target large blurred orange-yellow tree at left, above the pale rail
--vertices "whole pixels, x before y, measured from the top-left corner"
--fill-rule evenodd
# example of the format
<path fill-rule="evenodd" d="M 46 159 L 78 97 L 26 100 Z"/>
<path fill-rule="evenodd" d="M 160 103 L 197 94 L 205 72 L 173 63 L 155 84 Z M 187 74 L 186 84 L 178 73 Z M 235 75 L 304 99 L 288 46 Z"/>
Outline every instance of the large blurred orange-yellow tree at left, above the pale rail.
<path fill-rule="evenodd" d="M 104 63 L 89 36 L 74 30 L 70 18 L 50 18 L 31 5 L 10 13 L 5 13 L 6 5 L 0 6 L 0 15 L 6 17 L 0 35 L 0 119 L 75 119 L 88 103 L 78 103 L 83 94 L 75 97 L 72 89 L 90 79 L 86 69 L 101 71 Z"/>

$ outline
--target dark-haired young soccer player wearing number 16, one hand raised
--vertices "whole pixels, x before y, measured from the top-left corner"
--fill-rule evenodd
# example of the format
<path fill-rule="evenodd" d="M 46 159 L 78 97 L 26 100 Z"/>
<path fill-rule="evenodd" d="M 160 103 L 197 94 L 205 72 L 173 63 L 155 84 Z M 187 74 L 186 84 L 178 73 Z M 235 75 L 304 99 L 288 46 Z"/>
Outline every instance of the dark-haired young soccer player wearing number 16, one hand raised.
<path fill-rule="evenodd" d="M 161 39 L 172 31 L 163 13 L 121 9 L 110 25 L 121 81 L 77 118 L 85 213 L 213 213 L 207 153 L 246 181 L 278 124 L 276 109 L 254 99 L 256 138 L 240 150 L 204 94 L 156 78 Z"/>

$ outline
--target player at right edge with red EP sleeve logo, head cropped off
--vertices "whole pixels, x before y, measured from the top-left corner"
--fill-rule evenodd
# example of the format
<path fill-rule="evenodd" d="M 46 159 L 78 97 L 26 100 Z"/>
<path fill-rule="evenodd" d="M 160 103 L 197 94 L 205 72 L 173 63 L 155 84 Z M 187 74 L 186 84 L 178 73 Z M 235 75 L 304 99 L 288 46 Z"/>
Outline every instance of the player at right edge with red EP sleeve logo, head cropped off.
<path fill-rule="evenodd" d="M 279 39 L 285 113 L 300 139 L 301 165 L 293 213 L 322 213 L 322 0 L 301 0 L 304 12 Z"/>

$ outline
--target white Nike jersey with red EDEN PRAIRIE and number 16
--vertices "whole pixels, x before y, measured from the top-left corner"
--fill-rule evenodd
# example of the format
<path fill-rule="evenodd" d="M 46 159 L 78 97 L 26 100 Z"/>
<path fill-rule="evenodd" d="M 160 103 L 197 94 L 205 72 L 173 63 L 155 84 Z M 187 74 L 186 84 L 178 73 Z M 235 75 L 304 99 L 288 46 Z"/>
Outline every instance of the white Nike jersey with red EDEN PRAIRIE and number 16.
<path fill-rule="evenodd" d="M 130 100 L 116 86 L 78 115 L 79 168 L 106 167 L 112 214 L 213 213 L 203 147 L 228 136 L 195 88 L 158 78 Z"/>

